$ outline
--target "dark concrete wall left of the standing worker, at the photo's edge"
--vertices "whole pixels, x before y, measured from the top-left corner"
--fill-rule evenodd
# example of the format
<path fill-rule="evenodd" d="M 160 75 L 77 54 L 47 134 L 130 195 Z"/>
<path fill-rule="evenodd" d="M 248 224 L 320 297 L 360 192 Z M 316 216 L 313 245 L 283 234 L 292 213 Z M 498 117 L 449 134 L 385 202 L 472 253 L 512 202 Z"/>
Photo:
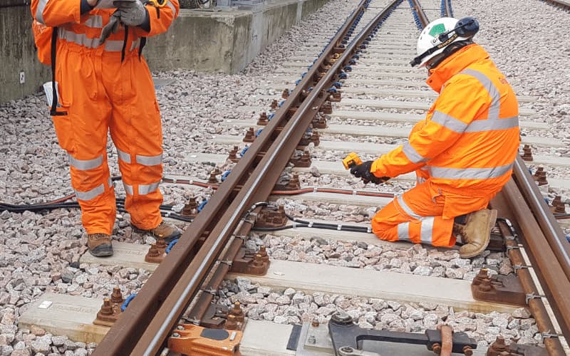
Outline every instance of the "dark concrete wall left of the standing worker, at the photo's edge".
<path fill-rule="evenodd" d="M 2 0 L 1 6 L 22 4 Z M 24 72 L 24 84 L 20 84 Z M 0 103 L 36 93 L 49 80 L 51 71 L 36 57 L 29 6 L 0 7 Z"/>

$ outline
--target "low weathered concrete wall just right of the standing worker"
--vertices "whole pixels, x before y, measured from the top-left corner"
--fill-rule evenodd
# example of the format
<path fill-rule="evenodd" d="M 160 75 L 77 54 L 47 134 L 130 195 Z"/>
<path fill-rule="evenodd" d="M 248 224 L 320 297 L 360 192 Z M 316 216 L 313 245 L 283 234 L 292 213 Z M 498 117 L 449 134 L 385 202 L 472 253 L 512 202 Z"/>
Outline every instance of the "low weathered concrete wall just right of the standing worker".
<path fill-rule="evenodd" d="M 326 1 L 279 1 L 253 11 L 183 9 L 167 33 L 148 39 L 145 57 L 152 70 L 238 73 Z"/>

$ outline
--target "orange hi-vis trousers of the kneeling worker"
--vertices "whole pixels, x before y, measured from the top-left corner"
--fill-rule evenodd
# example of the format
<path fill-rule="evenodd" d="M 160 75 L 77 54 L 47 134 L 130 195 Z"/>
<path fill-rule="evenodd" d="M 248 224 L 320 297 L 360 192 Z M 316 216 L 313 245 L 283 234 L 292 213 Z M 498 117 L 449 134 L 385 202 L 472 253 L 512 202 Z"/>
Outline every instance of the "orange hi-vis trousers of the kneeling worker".
<path fill-rule="evenodd" d="M 455 216 L 484 209 L 489 200 L 442 193 L 427 179 L 380 209 L 371 221 L 372 231 L 386 241 L 451 247 L 456 242 L 452 235 Z"/>

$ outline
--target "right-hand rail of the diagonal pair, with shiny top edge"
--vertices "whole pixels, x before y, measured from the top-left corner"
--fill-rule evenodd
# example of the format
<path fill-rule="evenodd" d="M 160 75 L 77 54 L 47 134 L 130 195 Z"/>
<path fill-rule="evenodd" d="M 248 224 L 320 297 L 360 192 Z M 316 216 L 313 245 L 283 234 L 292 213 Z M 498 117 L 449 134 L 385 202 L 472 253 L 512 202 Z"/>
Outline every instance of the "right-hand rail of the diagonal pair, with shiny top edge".
<path fill-rule="evenodd" d="M 132 355 L 155 355 L 160 350 L 162 342 L 170 335 L 170 330 L 177 322 L 177 318 L 180 318 L 180 315 L 184 313 L 185 308 L 187 308 L 187 305 L 197 292 L 200 283 L 203 281 L 204 273 L 207 272 L 207 266 L 212 266 L 215 262 L 214 258 L 218 256 L 224 243 L 229 239 L 229 235 L 236 228 L 239 217 L 253 201 L 264 200 L 269 197 L 274 182 L 277 182 L 277 179 L 279 179 L 282 170 L 289 162 L 289 157 L 295 150 L 295 142 L 301 140 L 318 108 L 326 100 L 326 89 L 330 88 L 328 85 L 331 85 L 336 80 L 336 76 L 341 73 L 343 66 L 348 63 L 352 54 L 356 53 L 361 43 L 372 32 L 376 23 L 383 19 L 401 1 L 393 1 L 390 6 L 387 6 L 380 14 L 375 16 L 373 21 L 368 23 L 366 28 L 361 31 L 358 38 L 352 41 L 346 48 L 341 58 L 331 66 L 328 73 L 316 83 L 314 89 L 299 106 L 283 130 L 281 130 L 273 145 L 271 145 L 254 169 L 251 177 L 247 179 L 244 188 L 240 190 L 236 199 L 232 201 L 229 209 L 222 216 L 221 221 L 227 222 L 217 224 L 214 227 L 211 235 L 217 236 L 217 238 L 215 240 L 207 239 L 204 242 L 203 248 L 200 249 L 196 258 L 177 281 L 177 285 L 172 290 L 172 293 L 167 296 L 167 300 L 157 311 L 155 318 L 147 325 L 147 330 L 141 335 L 140 341 L 133 348 Z M 319 101 L 321 103 L 318 103 Z M 264 179 L 268 179 L 269 182 L 273 183 L 263 184 Z"/>

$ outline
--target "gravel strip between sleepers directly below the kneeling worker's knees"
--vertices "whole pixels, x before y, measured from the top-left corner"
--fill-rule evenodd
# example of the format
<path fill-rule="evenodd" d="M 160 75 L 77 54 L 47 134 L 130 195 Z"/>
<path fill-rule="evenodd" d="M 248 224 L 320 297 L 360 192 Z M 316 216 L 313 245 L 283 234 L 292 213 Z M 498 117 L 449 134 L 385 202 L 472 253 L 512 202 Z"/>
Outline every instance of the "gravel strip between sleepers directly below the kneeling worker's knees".
<path fill-rule="evenodd" d="M 355 221 L 361 222 L 361 221 Z M 489 274 L 513 272 L 512 264 L 502 252 L 484 251 L 472 259 L 460 258 L 455 249 L 433 248 L 420 244 L 406 247 L 380 246 L 364 241 L 287 237 L 265 234 L 259 236 L 269 256 L 276 260 L 328 264 L 331 266 L 365 268 L 417 276 L 463 279 L 472 281 L 481 268 Z"/>

